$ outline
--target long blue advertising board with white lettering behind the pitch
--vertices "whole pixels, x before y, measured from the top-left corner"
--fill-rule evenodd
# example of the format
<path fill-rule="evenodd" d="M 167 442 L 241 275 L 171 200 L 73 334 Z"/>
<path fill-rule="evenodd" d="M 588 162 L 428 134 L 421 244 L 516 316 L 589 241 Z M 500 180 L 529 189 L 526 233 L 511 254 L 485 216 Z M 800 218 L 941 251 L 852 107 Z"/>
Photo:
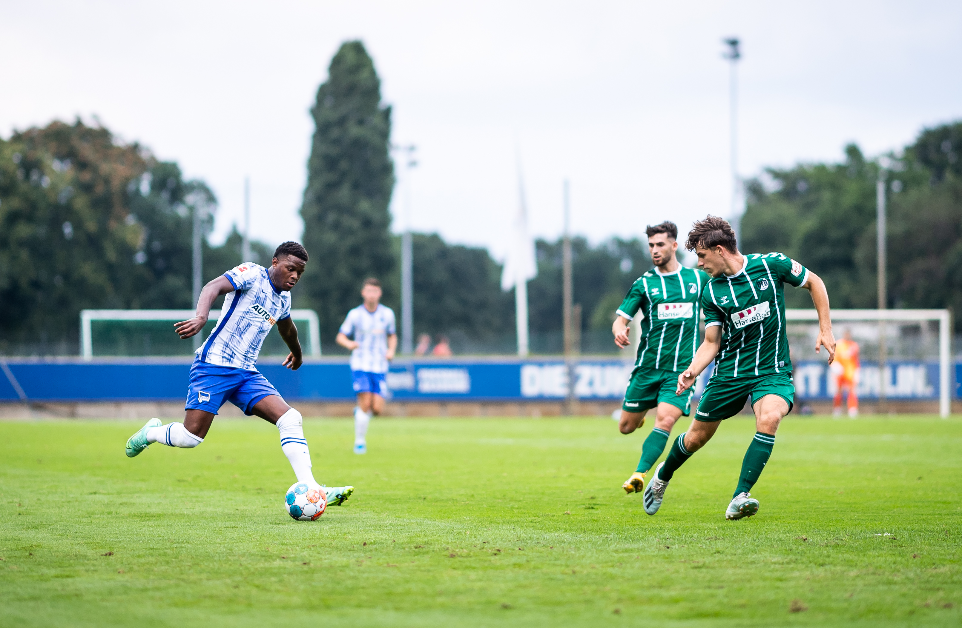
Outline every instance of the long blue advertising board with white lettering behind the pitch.
<path fill-rule="evenodd" d="M 0 401 L 18 401 L 17 387 L 38 402 L 154 401 L 183 399 L 189 362 L 145 360 L 34 361 L 6 363 L 0 375 Z M 354 398 L 346 360 L 305 363 L 292 371 L 280 364 L 258 368 L 285 398 L 309 401 L 348 401 Z M 574 393 L 582 400 L 618 400 L 631 374 L 631 363 L 582 359 L 573 367 Z M 559 400 L 569 387 L 569 368 L 561 360 L 414 360 L 395 361 L 387 375 L 391 396 L 398 401 L 520 401 Z M 699 378 L 696 394 L 704 386 Z M 954 396 L 962 391 L 962 363 L 954 368 Z M 823 362 L 795 365 L 799 399 L 829 399 L 835 378 Z M 894 399 L 938 399 L 938 364 L 886 364 L 886 393 Z M 878 366 L 863 363 L 858 394 L 878 396 Z"/>

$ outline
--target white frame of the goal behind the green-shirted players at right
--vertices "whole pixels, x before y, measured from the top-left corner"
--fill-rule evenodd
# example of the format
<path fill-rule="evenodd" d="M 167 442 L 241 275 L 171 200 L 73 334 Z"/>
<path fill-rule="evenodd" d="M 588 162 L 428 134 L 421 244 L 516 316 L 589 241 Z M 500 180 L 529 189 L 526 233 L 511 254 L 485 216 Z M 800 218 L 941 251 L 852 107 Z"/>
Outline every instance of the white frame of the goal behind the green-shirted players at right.
<path fill-rule="evenodd" d="M 819 319 L 819 314 L 815 310 L 795 310 L 786 309 L 785 319 L 788 323 L 814 322 Z M 921 321 L 937 321 L 939 324 L 938 339 L 938 364 L 939 364 L 939 414 L 945 418 L 949 416 L 951 408 L 951 313 L 949 310 L 832 310 L 832 322 L 876 322 L 879 323 L 878 339 L 884 347 L 886 331 L 883 327 L 885 322 L 892 321 L 902 324 L 910 324 Z M 838 330 L 836 329 L 836 336 Z M 887 354 L 887 352 L 885 352 Z M 883 360 L 885 355 L 881 356 Z M 884 370 L 878 369 L 879 379 L 884 377 Z M 882 384 L 879 384 L 882 388 Z"/>

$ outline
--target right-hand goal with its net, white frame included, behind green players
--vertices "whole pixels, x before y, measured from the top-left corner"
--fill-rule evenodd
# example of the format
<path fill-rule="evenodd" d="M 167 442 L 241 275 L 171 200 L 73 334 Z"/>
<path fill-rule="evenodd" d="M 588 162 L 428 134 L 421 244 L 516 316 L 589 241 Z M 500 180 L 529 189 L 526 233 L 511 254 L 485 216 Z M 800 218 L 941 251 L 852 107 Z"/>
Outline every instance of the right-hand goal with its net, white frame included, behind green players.
<path fill-rule="evenodd" d="M 829 366 L 814 353 L 818 338 L 815 310 L 785 311 L 797 403 L 831 400 L 841 364 Z M 858 344 L 861 366 L 858 397 L 873 403 L 938 401 L 949 415 L 955 386 L 951 377 L 951 318 L 948 310 L 832 310 L 836 340 Z"/>

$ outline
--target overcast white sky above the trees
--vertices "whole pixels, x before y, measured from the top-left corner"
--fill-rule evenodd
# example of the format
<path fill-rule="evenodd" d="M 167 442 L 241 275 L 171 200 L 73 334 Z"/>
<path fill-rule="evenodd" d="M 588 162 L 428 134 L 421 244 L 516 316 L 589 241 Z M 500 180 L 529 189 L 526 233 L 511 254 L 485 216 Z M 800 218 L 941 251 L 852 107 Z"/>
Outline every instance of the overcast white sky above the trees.
<path fill-rule="evenodd" d="M 0 14 L 0 134 L 96 114 L 214 188 L 215 241 L 241 221 L 245 175 L 252 235 L 299 238 L 308 110 L 351 38 L 393 141 L 418 146 L 414 228 L 498 258 L 516 146 L 538 236 L 562 229 L 565 177 L 573 231 L 595 241 L 728 214 L 725 36 L 743 40 L 742 175 L 837 160 L 848 141 L 899 148 L 962 117 L 958 2 L 7 0 Z"/>

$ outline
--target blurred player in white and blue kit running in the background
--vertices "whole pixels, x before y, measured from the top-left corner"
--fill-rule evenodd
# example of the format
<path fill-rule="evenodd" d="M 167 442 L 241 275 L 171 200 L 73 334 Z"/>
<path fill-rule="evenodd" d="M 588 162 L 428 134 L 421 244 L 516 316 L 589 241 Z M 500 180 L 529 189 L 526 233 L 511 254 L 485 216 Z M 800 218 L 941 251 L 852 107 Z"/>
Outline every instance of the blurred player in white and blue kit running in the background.
<path fill-rule="evenodd" d="M 338 344 L 351 351 L 351 377 L 358 395 L 354 409 L 355 454 L 367 453 L 370 417 L 384 412 L 388 394 L 384 376 L 397 349 L 394 312 L 381 305 L 381 282 L 374 278 L 365 280 L 361 296 L 364 303 L 347 313 L 338 332 Z"/>

